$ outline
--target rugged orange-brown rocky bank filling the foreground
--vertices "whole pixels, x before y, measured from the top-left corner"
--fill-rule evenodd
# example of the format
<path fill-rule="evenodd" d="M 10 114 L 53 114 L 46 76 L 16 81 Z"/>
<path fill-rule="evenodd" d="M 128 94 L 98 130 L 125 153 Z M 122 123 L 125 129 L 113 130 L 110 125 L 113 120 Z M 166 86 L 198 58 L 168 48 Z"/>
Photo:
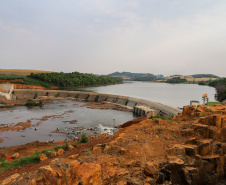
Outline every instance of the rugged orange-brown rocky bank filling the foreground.
<path fill-rule="evenodd" d="M 185 106 L 172 120 L 134 121 L 98 145 L 12 170 L 1 183 L 224 184 L 225 115 L 225 105 Z"/>

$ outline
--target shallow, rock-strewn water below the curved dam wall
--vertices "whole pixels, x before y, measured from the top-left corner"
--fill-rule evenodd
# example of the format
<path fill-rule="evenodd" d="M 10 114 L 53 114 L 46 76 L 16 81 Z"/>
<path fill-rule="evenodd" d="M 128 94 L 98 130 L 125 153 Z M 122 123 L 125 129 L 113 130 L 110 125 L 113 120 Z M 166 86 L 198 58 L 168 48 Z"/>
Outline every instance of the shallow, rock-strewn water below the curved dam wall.
<path fill-rule="evenodd" d="M 0 147 L 16 146 L 32 141 L 62 141 L 80 137 L 82 133 L 112 134 L 117 125 L 134 119 L 132 112 L 81 107 L 85 102 L 54 100 L 42 107 L 19 106 L 0 111 L 0 126 L 30 122 L 31 127 L 19 131 L 0 132 Z M 92 129 L 90 129 L 92 128 Z"/>

